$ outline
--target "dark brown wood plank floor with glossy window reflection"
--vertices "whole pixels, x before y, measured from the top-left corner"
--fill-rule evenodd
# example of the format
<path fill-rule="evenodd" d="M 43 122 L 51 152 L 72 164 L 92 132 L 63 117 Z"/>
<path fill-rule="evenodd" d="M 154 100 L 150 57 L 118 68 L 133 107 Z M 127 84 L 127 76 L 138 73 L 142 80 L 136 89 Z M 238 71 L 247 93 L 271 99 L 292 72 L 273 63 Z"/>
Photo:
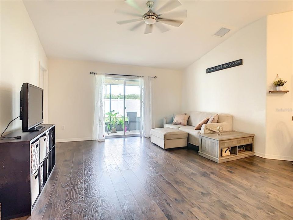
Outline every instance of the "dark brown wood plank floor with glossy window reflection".
<path fill-rule="evenodd" d="M 57 143 L 29 219 L 293 219 L 292 162 L 217 164 L 148 138 Z"/>

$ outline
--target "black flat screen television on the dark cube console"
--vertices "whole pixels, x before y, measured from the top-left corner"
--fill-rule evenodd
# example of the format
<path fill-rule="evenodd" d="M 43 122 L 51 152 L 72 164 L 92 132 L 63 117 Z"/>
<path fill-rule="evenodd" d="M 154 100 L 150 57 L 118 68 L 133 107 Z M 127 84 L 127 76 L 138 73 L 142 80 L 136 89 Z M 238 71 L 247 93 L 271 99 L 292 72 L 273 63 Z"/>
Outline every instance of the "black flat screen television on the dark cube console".
<path fill-rule="evenodd" d="M 30 83 L 23 83 L 20 91 L 20 120 L 22 120 L 23 131 L 36 131 L 43 128 L 43 126 L 37 127 L 44 122 L 43 100 L 43 89 Z"/>

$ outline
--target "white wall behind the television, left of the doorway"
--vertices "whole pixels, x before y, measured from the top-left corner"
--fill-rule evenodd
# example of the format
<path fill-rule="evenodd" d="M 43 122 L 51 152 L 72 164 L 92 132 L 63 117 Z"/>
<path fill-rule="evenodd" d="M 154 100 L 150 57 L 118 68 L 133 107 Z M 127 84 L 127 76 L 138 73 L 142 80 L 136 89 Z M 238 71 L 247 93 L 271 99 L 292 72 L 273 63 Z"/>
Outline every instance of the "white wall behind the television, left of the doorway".
<path fill-rule="evenodd" d="M 1 1 L 0 130 L 19 116 L 19 92 L 24 82 L 38 86 L 39 64 L 47 57 L 22 1 Z M 21 128 L 14 121 L 9 129 Z"/>

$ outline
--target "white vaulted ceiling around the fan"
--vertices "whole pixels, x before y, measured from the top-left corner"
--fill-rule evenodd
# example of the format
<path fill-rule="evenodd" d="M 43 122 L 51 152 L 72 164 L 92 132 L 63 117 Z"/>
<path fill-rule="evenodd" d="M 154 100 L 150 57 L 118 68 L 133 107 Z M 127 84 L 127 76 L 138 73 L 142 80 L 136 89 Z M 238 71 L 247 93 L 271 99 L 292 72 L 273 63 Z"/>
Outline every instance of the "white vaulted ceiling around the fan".
<path fill-rule="evenodd" d="M 137 2 L 148 11 L 147 1 Z M 187 9 L 183 24 L 179 28 L 169 26 L 171 30 L 164 33 L 154 28 L 151 34 L 144 34 L 144 27 L 129 31 L 135 24 L 116 23 L 131 18 L 114 13 L 116 8 L 125 6 L 122 1 L 24 1 L 24 4 L 48 58 L 174 69 L 188 66 L 263 16 L 293 10 L 292 1 L 180 2 L 180 7 Z M 222 27 L 231 31 L 223 37 L 213 36 Z"/>

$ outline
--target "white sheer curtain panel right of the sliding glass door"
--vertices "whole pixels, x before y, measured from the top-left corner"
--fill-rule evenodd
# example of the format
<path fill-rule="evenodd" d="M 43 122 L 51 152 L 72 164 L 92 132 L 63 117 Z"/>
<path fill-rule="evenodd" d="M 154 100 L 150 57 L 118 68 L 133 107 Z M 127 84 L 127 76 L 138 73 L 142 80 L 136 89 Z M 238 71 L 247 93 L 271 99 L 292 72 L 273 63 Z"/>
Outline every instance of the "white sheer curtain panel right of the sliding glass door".
<path fill-rule="evenodd" d="M 141 87 L 141 106 L 142 106 L 142 129 L 143 136 L 151 137 L 150 130 L 152 129 L 152 84 L 153 78 L 140 77 Z"/>

